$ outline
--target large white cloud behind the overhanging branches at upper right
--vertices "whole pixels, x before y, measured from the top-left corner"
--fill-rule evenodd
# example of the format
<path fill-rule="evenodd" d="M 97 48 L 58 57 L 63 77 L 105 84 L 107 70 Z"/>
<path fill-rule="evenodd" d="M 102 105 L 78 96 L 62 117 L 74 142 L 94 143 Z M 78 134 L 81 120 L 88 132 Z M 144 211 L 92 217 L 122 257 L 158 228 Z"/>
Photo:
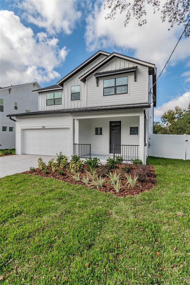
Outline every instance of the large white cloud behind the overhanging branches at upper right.
<path fill-rule="evenodd" d="M 155 63 L 161 69 L 167 62 L 184 27 L 175 26 L 168 31 L 169 24 L 162 23 L 160 12 L 153 14 L 149 5 L 147 7 L 147 24 L 139 27 L 137 20 L 131 18 L 128 26 L 124 27 L 125 14 L 117 13 L 115 20 L 105 20 L 107 11 L 99 2 L 95 4 L 94 11 L 87 18 L 85 32 L 88 50 L 115 47 L 127 51 L 134 51 L 134 57 Z M 189 56 L 189 39 L 182 38 L 179 42 L 169 64 L 177 64 Z"/>

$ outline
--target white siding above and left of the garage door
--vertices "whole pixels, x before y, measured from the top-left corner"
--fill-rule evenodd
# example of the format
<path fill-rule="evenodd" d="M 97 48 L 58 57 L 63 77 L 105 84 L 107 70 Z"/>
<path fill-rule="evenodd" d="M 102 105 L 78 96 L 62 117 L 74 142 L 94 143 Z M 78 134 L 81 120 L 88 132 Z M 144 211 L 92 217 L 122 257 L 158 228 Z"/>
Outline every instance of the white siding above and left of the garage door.
<path fill-rule="evenodd" d="M 16 118 L 16 153 L 22 153 L 22 135 L 24 129 L 69 128 L 69 115 L 44 115 Z"/>

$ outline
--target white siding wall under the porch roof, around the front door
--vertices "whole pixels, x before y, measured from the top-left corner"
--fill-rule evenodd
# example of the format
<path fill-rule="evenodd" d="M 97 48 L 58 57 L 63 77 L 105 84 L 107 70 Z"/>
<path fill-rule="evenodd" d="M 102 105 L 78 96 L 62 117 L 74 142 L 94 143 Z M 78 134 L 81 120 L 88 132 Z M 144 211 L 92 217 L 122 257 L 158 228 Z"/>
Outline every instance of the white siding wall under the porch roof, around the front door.
<path fill-rule="evenodd" d="M 110 121 L 121 121 L 121 144 L 139 145 L 139 135 L 130 135 L 130 127 L 139 127 L 139 116 L 79 120 L 79 143 L 91 144 L 91 153 L 109 154 Z M 102 127 L 102 135 L 95 128 Z"/>

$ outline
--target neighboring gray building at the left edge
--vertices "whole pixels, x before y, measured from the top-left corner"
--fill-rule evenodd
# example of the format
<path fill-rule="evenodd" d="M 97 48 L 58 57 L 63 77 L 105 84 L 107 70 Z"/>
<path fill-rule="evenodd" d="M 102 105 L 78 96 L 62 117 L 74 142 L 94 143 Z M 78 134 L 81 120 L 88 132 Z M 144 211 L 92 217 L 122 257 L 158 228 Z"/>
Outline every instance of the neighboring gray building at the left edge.
<path fill-rule="evenodd" d="M 38 111 L 38 93 L 32 93 L 37 88 L 41 88 L 37 82 L 0 88 L 1 149 L 15 148 L 15 121 L 6 115 Z"/>

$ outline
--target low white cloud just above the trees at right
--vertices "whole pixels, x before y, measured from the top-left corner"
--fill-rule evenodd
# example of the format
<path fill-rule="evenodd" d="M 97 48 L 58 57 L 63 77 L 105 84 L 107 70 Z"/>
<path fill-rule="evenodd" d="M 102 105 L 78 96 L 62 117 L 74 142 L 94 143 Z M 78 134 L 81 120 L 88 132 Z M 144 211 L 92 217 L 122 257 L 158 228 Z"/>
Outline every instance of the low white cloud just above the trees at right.
<path fill-rule="evenodd" d="M 164 103 L 162 106 L 154 109 L 154 121 L 158 121 L 164 112 L 174 109 L 175 106 L 181 107 L 182 109 L 187 109 L 190 103 L 190 92 L 186 92 L 181 96 L 177 96 L 171 101 Z"/>

